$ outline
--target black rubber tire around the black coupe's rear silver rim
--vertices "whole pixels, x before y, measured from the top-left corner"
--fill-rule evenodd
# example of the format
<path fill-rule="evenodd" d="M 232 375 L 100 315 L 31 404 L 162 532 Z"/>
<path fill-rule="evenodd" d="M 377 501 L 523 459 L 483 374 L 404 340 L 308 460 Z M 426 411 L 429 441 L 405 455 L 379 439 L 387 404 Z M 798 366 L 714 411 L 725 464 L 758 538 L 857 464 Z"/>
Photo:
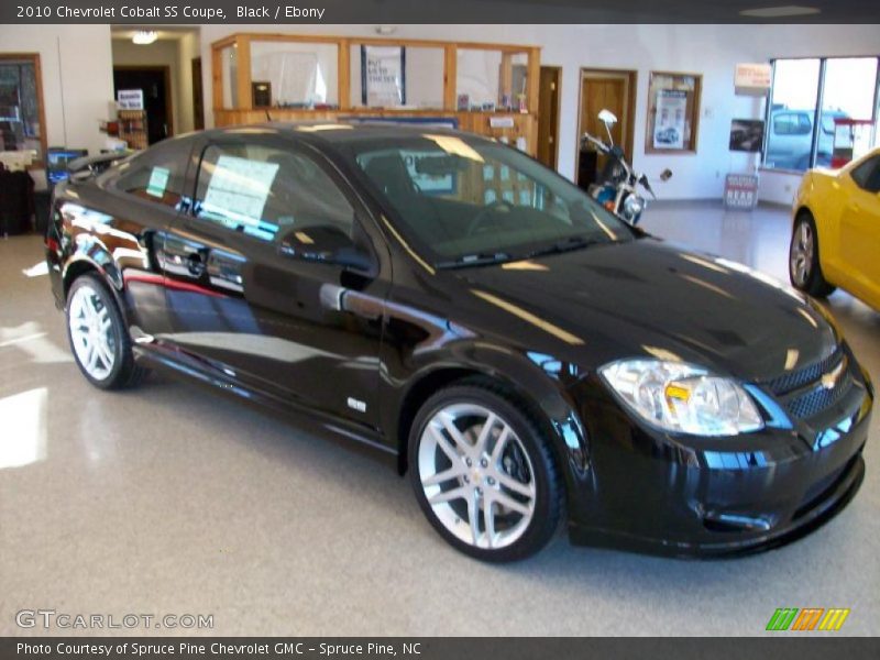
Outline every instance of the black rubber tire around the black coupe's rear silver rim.
<path fill-rule="evenodd" d="M 112 354 L 112 366 L 107 370 L 106 375 L 101 374 L 96 376 L 94 373 L 90 373 L 89 367 L 82 363 L 80 351 L 75 345 L 70 321 L 72 301 L 75 296 L 77 296 L 77 292 L 85 289 L 85 287 L 88 287 L 87 290 L 94 292 L 97 305 L 101 310 L 106 309 L 107 318 L 110 321 L 108 345 L 109 352 Z M 96 387 L 101 389 L 133 387 L 150 373 L 147 369 L 135 363 L 134 354 L 132 353 L 131 337 L 125 328 L 122 312 L 119 310 L 119 306 L 112 293 L 110 293 L 107 285 L 98 275 L 86 273 L 74 280 L 70 285 L 70 289 L 67 292 L 65 318 L 67 321 L 67 340 L 70 342 L 70 351 L 74 354 L 74 361 L 86 380 Z"/>

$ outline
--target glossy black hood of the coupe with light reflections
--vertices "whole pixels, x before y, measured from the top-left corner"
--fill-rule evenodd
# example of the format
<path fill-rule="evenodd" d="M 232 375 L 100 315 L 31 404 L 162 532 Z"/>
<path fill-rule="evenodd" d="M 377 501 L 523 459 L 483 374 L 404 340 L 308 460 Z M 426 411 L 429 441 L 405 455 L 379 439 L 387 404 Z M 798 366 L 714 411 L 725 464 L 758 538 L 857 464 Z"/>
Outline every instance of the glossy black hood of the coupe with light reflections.
<path fill-rule="evenodd" d="M 580 351 L 588 369 L 654 355 L 763 380 L 816 362 L 839 342 L 824 314 L 788 286 L 652 238 L 457 276 L 507 312 L 506 334 L 543 330 Z"/>

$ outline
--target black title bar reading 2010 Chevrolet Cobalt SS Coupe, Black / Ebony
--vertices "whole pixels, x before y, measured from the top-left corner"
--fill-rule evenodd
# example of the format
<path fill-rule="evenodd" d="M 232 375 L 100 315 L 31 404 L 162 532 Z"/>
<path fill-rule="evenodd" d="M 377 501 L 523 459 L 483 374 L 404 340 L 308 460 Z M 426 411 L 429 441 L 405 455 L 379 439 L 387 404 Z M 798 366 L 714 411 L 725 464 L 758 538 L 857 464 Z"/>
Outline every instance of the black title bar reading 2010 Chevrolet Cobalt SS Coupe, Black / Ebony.
<path fill-rule="evenodd" d="M 771 6 L 768 9 L 768 6 Z M 794 9 L 792 9 L 794 6 Z M 800 13 L 798 12 L 800 9 Z M 746 13 L 743 13 L 746 12 Z M 757 12 L 757 13 L 756 13 Z M 769 13 L 768 13 L 769 12 Z M 794 12 L 794 13 L 792 13 Z M 3 0 L 0 23 L 877 23 L 865 0 Z M 880 36 L 880 33 L 878 34 Z"/>

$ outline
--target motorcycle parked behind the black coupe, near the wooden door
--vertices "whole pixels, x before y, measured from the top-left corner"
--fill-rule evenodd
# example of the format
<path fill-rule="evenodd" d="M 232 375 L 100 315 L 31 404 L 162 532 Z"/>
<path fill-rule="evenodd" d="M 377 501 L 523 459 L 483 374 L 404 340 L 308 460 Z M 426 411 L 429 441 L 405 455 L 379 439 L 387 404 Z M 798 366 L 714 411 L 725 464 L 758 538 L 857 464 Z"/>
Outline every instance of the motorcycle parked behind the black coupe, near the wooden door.
<path fill-rule="evenodd" d="M 648 206 L 648 201 L 639 194 L 639 186 L 645 188 L 653 199 L 657 199 L 657 195 L 648 183 L 648 176 L 634 170 L 626 161 L 623 147 L 614 144 L 612 127 L 617 123 L 614 113 L 602 110 L 598 119 L 605 124 L 605 131 L 608 133 L 607 144 L 590 133 L 584 133 L 581 139 L 582 145 L 592 144 L 601 154 L 608 156 L 608 160 L 598 182 L 591 185 L 587 193 L 610 212 L 635 227 Z M 660 180 L 667 182 L 671 176 L 672 170 L 664 169 L 660 174 Z"/>

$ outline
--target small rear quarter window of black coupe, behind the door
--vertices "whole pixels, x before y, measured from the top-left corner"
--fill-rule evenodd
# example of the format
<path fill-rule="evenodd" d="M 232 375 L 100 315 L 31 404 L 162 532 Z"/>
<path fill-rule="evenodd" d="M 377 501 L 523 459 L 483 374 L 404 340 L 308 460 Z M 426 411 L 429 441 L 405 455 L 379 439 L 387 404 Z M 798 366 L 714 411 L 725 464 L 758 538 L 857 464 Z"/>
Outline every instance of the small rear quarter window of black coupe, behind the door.
<path fill-rule="evenodd" d="M 157 147 L 131 161 L 114 184 L 117 190 L 179 210 L 189 148 L 169 147 Z"/>

